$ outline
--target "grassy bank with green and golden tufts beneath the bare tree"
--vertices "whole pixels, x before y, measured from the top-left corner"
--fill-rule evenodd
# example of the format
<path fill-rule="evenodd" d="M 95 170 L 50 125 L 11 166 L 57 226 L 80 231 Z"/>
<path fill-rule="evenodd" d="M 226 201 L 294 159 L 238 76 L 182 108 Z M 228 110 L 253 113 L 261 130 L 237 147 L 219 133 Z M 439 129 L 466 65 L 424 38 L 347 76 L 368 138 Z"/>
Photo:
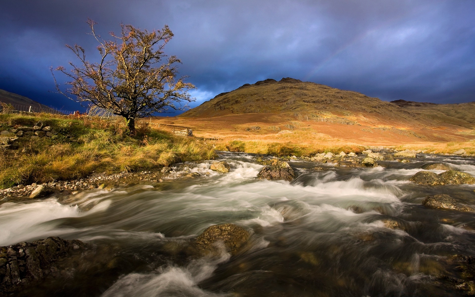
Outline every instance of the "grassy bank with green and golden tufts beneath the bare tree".
<path fill-rule="evenodd" d="M 0 150 L 0 188 L 78 179 L 93 172 L 150 170 L 215 156 L 209 144 L 175 137 L 147 125 L 139 125 L 138 136 L 129 137 L 122 118 L 4 114 L 0 115 L 0 130 L 32 126 L 38 121 L 52 126 L 58 134 L 39 140 L 22 137 L 18 150 Z M 69 142 L 67 134 L 78 142 Z"/>

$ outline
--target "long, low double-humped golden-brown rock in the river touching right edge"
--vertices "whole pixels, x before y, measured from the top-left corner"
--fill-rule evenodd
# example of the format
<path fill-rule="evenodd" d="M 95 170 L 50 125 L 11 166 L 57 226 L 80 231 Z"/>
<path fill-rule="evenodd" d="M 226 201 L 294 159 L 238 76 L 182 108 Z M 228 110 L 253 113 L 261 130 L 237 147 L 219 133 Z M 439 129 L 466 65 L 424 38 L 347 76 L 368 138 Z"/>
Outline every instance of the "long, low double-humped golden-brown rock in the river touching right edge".
<path fill-rule="evenodd" d="M 447 170 L 439 174 L 431 171 L 419 171 L 409 181 L 434 186 L 443 184 L 474 184 L 475 178 L 468 173 L 455 170 Z"/>

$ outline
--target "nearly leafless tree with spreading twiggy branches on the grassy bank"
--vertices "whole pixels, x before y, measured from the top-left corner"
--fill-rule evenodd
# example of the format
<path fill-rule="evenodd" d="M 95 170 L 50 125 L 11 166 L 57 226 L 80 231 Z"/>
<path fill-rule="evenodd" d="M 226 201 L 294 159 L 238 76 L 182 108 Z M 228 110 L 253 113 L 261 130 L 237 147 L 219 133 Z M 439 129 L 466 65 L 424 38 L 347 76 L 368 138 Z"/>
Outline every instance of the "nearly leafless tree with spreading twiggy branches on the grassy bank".
<path fill-rule="evenodd" d="M 63 66 L 55 69 L 71 79 L 66 82 L 69 87 L 65 92 L 51 71 L 59 93 L 123 116 L 131 135 L 135 134 L 136 118 L 156 112 L 184 110 L 188 102 L 194 101 L 188 91 L 195 86 L 184 82 L 184 77 L 177 79 L 177 64 L 181 61 L 163 52 L 173 37 L 167 25 L 149 32 L 121 24 L 120 36 L 111 32 L 113 39 L 103 40 L 95 33 L 97 23 L 88 19 L 87 24 L 92 31 L 90 34 L 99 43 L 100 62 L 86 60 L 81 46 L 66 45 L 76 54 L 80 64 L 69 62 L 71 71 Z M 164 57 L 168 58 L 161 63 Z"/>

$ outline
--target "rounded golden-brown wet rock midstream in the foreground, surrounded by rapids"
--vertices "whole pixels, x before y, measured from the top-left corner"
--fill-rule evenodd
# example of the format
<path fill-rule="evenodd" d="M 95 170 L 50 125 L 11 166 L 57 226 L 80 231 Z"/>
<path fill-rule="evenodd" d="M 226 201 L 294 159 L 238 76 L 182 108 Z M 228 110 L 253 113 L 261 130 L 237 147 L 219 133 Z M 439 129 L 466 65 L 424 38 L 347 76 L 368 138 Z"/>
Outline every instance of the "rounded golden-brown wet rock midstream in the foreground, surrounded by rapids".
<path fill-rule="evenodd" d="M 248 239 L 247 230 L 234 224 L 223 224 L 208 227 L 196 238 L 196 244 L 207 253 L 217 251 L 222 243 L 226 251 L 235 255 Z"/>

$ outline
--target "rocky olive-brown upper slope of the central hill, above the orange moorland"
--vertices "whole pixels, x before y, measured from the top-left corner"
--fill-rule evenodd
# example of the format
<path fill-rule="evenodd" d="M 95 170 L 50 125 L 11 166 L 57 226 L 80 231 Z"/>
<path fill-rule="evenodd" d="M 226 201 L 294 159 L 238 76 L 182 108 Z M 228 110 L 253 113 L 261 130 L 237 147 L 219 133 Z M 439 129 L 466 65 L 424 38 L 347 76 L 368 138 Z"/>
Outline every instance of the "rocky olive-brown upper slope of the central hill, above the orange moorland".
<path fill-rule="evenodd" d="M 221 93 L 186 113 L 183 117 L 215 117 L 231 114 L 300 114 L 304 119 L 355 113 L 381 115 L 386 118 L 414 119 L 405 108 L 353 91 L 302 82 L 294 78 L 280 81 L 266 79 Z"/>

